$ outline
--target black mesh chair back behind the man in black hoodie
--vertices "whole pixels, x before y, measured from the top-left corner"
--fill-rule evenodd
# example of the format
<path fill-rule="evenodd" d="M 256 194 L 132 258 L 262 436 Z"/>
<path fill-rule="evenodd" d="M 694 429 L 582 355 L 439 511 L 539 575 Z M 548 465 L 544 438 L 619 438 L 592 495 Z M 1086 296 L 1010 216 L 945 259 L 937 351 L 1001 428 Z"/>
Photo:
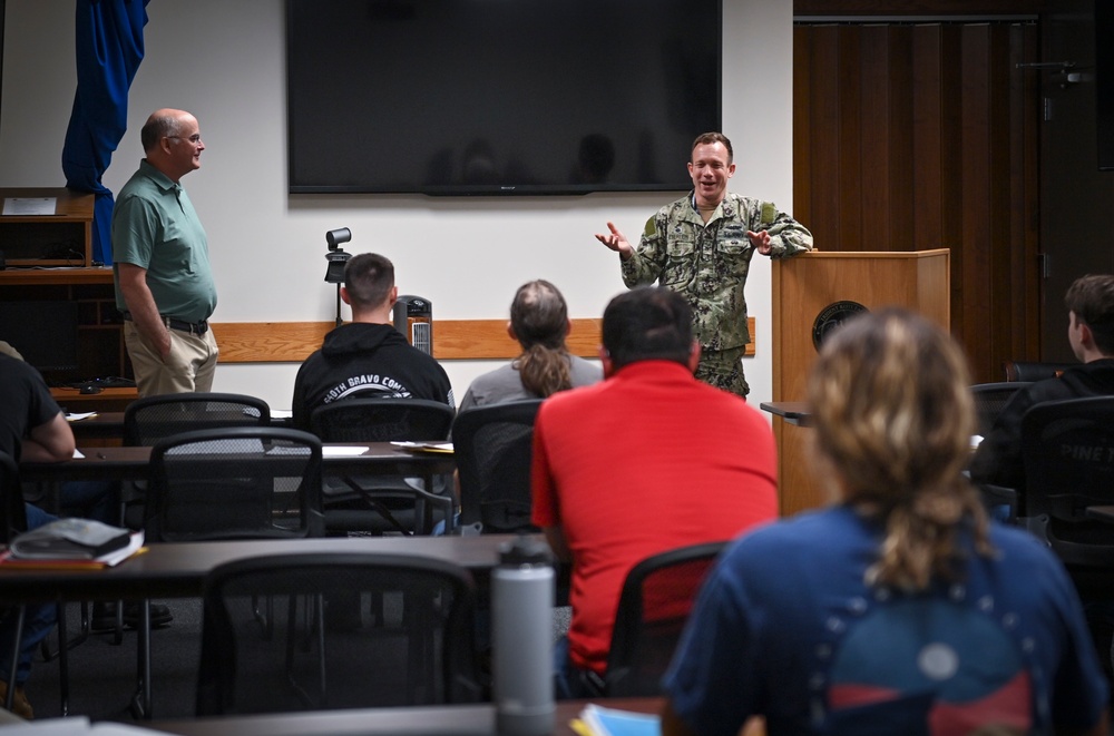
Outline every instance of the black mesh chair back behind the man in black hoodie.
<path fill-rule="evenodd" d="M 313 410 L 310 428 L 323 442 L 444 440 L 455 413 L 448 404 L 423 399 L 345 399 Z"/>

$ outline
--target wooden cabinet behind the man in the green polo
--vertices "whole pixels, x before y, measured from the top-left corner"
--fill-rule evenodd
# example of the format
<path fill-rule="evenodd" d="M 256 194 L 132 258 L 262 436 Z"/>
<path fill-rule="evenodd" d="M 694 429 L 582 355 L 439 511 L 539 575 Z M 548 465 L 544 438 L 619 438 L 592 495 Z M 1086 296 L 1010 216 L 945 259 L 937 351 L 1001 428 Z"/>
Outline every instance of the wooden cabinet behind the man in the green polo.
<path fill-rule="evenodd" d="M 42 371 L 51 385 L 130 379 L 113 269 L 92 264 L 94 195 L 65 188 L 0 189 L 4 203 L 42 197 L 55 199 L 53 215 L 0 215 L 0 251 L 7 264 L 0 271 L 0 301 L 77 303 L 78 366 Z"/>

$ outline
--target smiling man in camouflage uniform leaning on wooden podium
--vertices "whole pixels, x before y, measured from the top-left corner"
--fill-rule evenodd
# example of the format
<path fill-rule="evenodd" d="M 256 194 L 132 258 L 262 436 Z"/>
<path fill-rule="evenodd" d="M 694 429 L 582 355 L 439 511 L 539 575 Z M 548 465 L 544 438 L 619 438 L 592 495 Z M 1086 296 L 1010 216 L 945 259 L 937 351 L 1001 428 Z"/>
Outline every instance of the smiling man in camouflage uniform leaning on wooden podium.
<path fill-rule="evenodd" d="M 638 247 L 607 223 L 596 238 L 619 254 L 627 287 L 658 282 L 681 293 L 700 341 L 696 377 L 745 398 L 741 359 L 750 331 L 743 287 L 755 251 L 771 258 L 812 249 L 812 234 L 770 202 L 727 193 L 735 173 L 731 141 L 705 133 L 692 148 L 693 192 L 646 222 Z"/>

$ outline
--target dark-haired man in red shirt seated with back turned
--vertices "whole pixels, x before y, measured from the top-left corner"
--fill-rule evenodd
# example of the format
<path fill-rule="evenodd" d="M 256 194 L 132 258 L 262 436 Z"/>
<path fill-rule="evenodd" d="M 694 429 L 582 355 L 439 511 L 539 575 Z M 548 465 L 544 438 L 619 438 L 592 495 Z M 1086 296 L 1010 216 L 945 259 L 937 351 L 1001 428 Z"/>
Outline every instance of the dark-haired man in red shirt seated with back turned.
<path fill-rule="evenodd" d="M 683 297 L 663 287 L 616 296 L 603 342 L 604 381 L 550 396 L 534 431 L 532 521 L 573 563 L 568 663 L 557 663 L 565 697 L 604 674 L 632 567 L 778 514 L 770 424 L 693 377 L 700 344 Z"/>

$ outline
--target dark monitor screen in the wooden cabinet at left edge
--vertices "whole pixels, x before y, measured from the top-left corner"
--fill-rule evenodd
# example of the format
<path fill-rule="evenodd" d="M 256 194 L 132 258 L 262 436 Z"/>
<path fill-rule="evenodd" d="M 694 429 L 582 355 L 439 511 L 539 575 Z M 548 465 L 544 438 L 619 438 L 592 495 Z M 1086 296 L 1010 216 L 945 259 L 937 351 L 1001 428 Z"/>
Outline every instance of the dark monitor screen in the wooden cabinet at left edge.
<path fill-rule="evenodd" d="M 77 310 L 62 300 L 0 302 L 0 340 L 39 371 L 77 370 Z"/>

